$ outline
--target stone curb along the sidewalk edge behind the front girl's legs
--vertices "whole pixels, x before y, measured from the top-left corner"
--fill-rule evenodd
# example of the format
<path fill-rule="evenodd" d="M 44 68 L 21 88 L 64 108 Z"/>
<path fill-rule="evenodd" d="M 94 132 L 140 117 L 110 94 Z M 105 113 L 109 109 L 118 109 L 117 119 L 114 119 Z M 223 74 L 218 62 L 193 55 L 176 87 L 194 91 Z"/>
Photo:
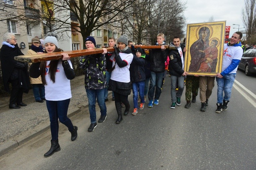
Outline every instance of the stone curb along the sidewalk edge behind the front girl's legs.
<path fill-rule="evenodd" d="M 79 113 L 81 111 L 81 109 L 79 108 L 75 108 L 75 109 L 72 109 L 70 111 L 70 113 L 68 114 L 68 117 L 72 117 L 74 116 L 75 114 Z M 29 141 L 30 139 L 42 134 L 43 132 L 47 131 L 48 129 L 50 129 L 50 124 L 49 122 L 47 122 L 46 125 L 43 125 L 43 128 L 39 128 L 38 130 L 35 128 L 35 130 L 33 130 L 34 133 L 31 133 L 29 136 L 26 136 L 26 137 L 20 137 L 18 138 L 18 140 L 16 141 L 8 141 L 7 143 L 3 144 L 1 147 L 0 147 L 0 156 L 6 154 L 7 152 L 11 151 L 12 149 L 20 146 L 21 144 Z"/>

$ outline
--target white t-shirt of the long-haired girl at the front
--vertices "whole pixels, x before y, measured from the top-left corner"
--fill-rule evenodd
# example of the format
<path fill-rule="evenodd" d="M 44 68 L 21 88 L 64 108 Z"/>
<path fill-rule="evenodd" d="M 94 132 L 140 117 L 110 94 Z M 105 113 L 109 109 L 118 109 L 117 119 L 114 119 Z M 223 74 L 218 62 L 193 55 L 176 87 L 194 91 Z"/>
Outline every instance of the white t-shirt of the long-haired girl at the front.
<path fill-rule="evenodd" d="M 72 63 L 68 60 L 70 67 L 72 67 Z M 55 83 L 50 79 L 49 76 L 49 64 L 50 61 L 46 63 L 46 85 L 45 85 L 45 99 L 51 101 L 60 101 L 70 99 L 71 95 L 71 87 L 70 87 L 70 80 L 67 79 L 64 68 L 62 66 L 62 61 L 59 60 L 56 74 L 55 74 Z"/>

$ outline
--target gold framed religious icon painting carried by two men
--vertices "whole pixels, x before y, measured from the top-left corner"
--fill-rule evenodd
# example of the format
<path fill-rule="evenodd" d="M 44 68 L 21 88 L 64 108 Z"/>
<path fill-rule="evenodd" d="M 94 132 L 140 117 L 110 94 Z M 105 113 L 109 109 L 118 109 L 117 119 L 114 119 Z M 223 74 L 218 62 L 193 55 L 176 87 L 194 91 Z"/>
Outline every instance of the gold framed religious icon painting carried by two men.
<path fill-rule="evenodd" d="M 188 24 L 185 71 L 215 75 L 221 71 L 226 21 Z"/>

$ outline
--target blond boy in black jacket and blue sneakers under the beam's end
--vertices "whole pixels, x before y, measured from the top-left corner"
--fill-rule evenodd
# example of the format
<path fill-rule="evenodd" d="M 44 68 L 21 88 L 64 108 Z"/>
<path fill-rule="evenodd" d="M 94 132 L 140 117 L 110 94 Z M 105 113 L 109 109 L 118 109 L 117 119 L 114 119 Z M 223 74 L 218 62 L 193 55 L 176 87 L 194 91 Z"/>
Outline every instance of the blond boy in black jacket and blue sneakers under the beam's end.
<path fill-rule="evenodd" d="M 153 97 L 155 91 L 154 105 L 158 104 L 158 99 L 161 95 L 161 87 L 163 82 L 163 76 L 165 73 L 165 61 L 167 59 L 168 50 L 165 48 L 166 43 L 164 42 L 165 35 L 159 33 L 157 35 L 156 45 L 161 45 L 161 49 L 149 50 L 150 58 L 150 86 L 148 90 L 148 107 L 153 107 Z M 156 86 L 156 89 L 155 89 Z"/>

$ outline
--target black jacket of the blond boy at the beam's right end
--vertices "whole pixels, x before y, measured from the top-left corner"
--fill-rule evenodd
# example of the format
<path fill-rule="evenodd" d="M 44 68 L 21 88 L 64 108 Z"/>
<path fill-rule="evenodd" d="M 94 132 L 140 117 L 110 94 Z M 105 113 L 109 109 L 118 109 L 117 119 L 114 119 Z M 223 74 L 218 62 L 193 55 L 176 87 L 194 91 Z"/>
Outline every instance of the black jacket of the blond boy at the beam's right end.
<path fill-rule="evenodd" d="M 166 45 L 166 43 L 163 45 Z M 168 49 L 161 50 L 158 48 L 149 50 L 150 70 L 156 73 L 164 72 L 167 55 Z"/>

